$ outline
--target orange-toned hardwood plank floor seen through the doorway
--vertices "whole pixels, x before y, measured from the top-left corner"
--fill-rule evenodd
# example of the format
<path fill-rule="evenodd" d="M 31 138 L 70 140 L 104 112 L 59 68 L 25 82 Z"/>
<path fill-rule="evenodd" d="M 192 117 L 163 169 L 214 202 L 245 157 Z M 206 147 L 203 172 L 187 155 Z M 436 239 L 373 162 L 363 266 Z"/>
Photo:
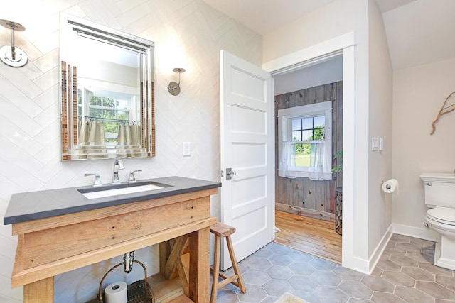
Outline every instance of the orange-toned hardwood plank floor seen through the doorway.
<path fill-rule="evenodd" d="M 341 264 L 341 236 L 335 223 L 275 211 L 275 243 Z"/>

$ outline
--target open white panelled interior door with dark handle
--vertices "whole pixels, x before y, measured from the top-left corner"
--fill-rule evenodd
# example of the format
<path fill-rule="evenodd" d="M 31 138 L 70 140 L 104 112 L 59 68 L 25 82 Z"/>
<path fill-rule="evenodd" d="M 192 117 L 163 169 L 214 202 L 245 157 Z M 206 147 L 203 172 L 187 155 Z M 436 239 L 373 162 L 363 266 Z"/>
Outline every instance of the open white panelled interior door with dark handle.
<path fill-rule="evenodd" d="M 269 72 L 221 50 L 220 220 L 237 261 L 274 238 L 274 99 Z M 221 269 L 232 265 L 225 241 Z"/>

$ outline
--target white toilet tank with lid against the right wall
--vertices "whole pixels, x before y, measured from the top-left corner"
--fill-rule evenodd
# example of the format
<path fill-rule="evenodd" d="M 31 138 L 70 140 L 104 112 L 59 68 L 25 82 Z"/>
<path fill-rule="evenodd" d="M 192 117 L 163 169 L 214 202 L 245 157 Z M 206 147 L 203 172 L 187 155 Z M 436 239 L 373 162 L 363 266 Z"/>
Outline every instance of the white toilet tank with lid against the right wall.
<path fill-rule="evenodd" d="M 425 204 L 428 207 L 445 206 L 455 208 L 455 174 L 422 172 Z"/>

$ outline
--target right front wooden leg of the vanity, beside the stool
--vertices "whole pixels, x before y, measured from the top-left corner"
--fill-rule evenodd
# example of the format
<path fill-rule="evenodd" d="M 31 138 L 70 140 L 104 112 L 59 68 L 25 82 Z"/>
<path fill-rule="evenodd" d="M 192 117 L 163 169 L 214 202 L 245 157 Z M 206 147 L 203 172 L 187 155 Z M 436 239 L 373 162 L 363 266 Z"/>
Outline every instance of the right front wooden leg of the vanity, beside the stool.
<path fill-rule="evenodd" d="M 209 301 L 210 226 L 190 233 L 189 297 L 193 302 Z"/>

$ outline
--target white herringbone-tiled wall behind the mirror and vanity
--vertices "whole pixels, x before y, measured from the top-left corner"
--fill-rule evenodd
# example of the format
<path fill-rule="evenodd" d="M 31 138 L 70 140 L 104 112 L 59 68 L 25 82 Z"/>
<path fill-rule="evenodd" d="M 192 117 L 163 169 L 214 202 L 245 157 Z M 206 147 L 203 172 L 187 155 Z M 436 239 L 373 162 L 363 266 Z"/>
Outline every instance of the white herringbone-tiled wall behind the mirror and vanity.
<path fill-rule="evenodd" d="M 122 180 L 141 168 L 138 179 L 179 175 L 220 180 L 219 51 L 228 50 L 260 65 L 262 37 L 200 0 L 15 0 L 1 4 L 1 16 L 21 23 L 15 45 L 29 62 L 14 68 L 0 62 L 0 215 L 11 194 L 90 184 L 85 172 L 112 174 L 111 160 L 60 162 L 58 101 L 58 15 L 60 11 L 90 19 L 156 43 L 156 158 L 125 160 Z M 9 30 L 0 27 L 0 46 L 8 45 Z M 184 67 L 182 92 L 172 97 L 167 84 L 176 80 L 174 67 Z M 183 158 L 182 142 L 191 142 L 191 157 Z M 219 214 L 219 197 L 212 199 Z M 0 302 L 21 302 L 22 287 L 11 290 L 16 250 L 11 226 L 0 226 Z M 153 274 L 156 246 L 137 250 L 137 260 Z M 102 275 L 115 260 L 55 277 L 55 302 L 85 302 L 97 294 Z M 134 282 L 143 275 L 135 267 L 107 282 Z M 124 275 L 124 274 L 123 274 Z"/>

